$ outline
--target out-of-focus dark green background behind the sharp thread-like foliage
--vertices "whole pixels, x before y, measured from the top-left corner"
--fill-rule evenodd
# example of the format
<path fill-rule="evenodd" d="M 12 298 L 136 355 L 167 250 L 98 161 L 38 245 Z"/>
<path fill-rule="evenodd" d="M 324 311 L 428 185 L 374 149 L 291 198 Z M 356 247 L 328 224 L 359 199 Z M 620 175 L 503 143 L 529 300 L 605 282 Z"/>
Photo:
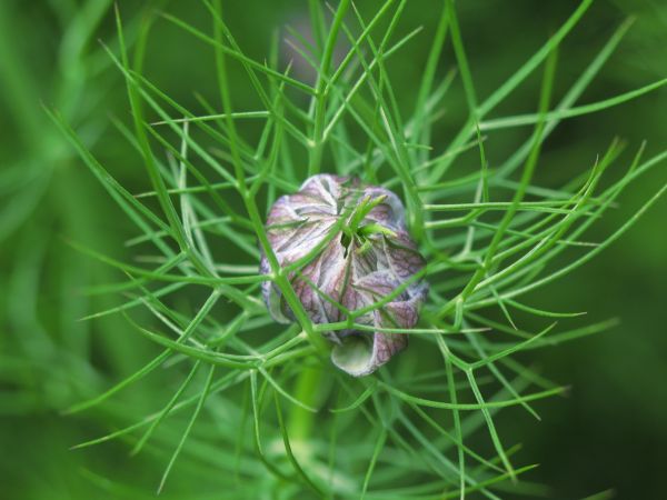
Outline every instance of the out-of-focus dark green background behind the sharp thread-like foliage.
<path fill-rule="evenodd" d="M 209 29 L 199 2 L 160 2 L 169 12 Z M 400 33 L 422 33 L 390 61 L 401 106 L 414 104 L 414 82 L 426 60 L 438 2 L 408 2 Z M 360 2 L 367 12 L 379 3 Z M 131 33 L 150 2 L 120 1 Z M 268 54 L 272 33 L 308 22 L 306 2 L 223 2 L 241 47 L 257 59 Z M 457 4 L 478 93 L 488 96 L 576 8 L 576 1 L 477 0 Z M 158 6 L 161 7 L 161 6 Z M 618 51 L 586 91 L 581 103 L 641 87 L 667 76 L 667 2 L 595 2 L 559 53 L 557 97 L 586 68 L 614 30 L 636 21 Z M 140 158 L 110 128 L 110 117 L 129 122 L 125 86 L 98 39 L 115 47 L 111 2 L 76 0 L 0 1 L 0 498 L 82 499 L 152 497 L 163 457 L 129 458 L 110 443 L 84 451 L 69 447 L 119 424 L 113 410 L 64 417 L 60 410 L 131 373 L 156 352 L 125 321 L 79 318 L 113 304 L 84 293 L 118 277 L 73 250 L 67 240 L 128 257 L 130 224 L 49 121 L 41 104 L 56 108 L 98 158 L 132 192 L 148 187 Z M 282 46 L 281 46 L 282 47 Z M 283 56 L 287 58 L 288 56 Z M 440 74 L 454 67 L 451 51 Z M 158 21 L 148 46 L 147 73 L 178 101 L 195 107 L 195 92 L 217 96 L 212 51 Z M 539 76 L 526 82 L 495 116 L 534 109 Z M 252 98 L 243 77 L 233 83 L 239 109 Z M 213 98 L 215 99 L 215 98 Z M 460 84 L 434 143 L 446 144 L 466 117 Z M 487 141 L 491 167 L 522 138 L 514 130 Z M 624 160 L 643 140 L 646 158 L 667 148 L 667 91 L 603 113 L 566 120 L 547 141 L 538 181 L 559 186 L 590 166 L 620 137 Z M 617 209 L 587 240 L 618 228 L 667 181 L 663 164 L 633 184 Z M 535 293 L 530 302 L 552 310 L 588 310 L 588 320 L 621 322 L 607 333 L 522 354 L 559 383 L 567 398 L 541 403 L 542 422 L 502 413 L 498 427 L 508 444 L 524 443 L 522 457 L 541 463 L 531 480 L 557 499 L 614 489 L 620 499 L 665 498 L 667 468 L 667 199 L 625 238 L 584 269 Z M 126 394 L 125 404 L 155 409 L 160 376 Z M 160 398 L 161 400 L 162 398 Z M 153 403 L 153 404 L 151 404 Z M 187 461 L 187 459 L 185 460 Z M 188 467 L 190 466 L 190 467 Z M 188 498 L 207 489 L 206 474 L 179 468 L 166 492 Z M 211 481 L 215 482 L 215 481 Z M 127 484 L 121 487 L 120 484 Z M 125 489 L 127 488 L 127 489 Z M 213 498 L 217 498 L 213 496 Z M 219 497 L 225 498 L 225 497 Z"/>

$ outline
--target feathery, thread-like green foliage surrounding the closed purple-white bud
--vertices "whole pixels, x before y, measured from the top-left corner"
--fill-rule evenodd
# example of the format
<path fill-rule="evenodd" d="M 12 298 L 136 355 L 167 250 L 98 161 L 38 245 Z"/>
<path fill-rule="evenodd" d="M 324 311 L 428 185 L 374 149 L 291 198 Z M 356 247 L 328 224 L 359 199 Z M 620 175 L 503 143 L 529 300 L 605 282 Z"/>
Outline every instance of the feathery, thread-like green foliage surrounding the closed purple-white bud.
<path fill-rule="evenodd" d="M 512 466 L 517 448 L 504 444 L 495 419 L 501 409 L 515 406 L 537 417 L 532 401 L 565 389 L 514 356 L 601 331 L 613 322 L 563 327 L 555 320 L 567 323 L 578 313 L 547 311 L 522 300 L 529 302 L 528 292 L 611 244 L 666 189 L 607 239 L 591 243 L 580 240 L 585 231 L 626 186 L 667 153 L 646 160 L 640 149 L 625 173 L 603 187 L 603 174 L 624 147 L 614 141 L 588 171 L 566 186 L 547 189 L 534 183 L 542 144 L 561 120 L 626 102 L 667 82 L 575 106 L 628 29 L 624 23 L 551 104 L 558 47 L 590 3 L 581 2 L 525 66 L 480 101 L 454 2 L 445 1 L 408 119 L 388 69 L 391 57 L 418 34 L 396 36 L 406 1 L 387 1 L 367 20 L 342 0 L 330 26 L 320 4 L 310 2 L 315 42 L 305 40 L 305 49 L 296 50 L 317 70 L 315 86 L 292 78 L 289 66 L 279 66 L 276 51 L 266 64 L 248 58 L 226 24 L 219 1 L 205 2 L 212 36 L 163 14 L 215 49 L 221 112 L 202 98 L 206 114 L 176 102 L 143 74 L 142 56 L 156 18 L 145 20 L 130 57 L 117 16 L 120 47 L 108 56 L 127 82 L 133 123 L 115 124 L 143 160 L 151 191 L 133 196 L 115 180 L 112 168 L 98 162 L 67 120 L 57 111 L 49 113 L 139 230 L 129 243 L 146 266 L 81 248 L 127 276 L 97 289 L 122 294 L 126 301 L 92 317 L 122 313 L 163 351 L 71 411 L 109 404 L 121 389 L 162 366 L 180 383 L 170 398 L 165 396 L 159 411 L 133 421 L 138 416 L 132 409 L 120 409 L 118 418 L 130 421 L 128 427 L 80 447 L 125 438 L 135 452 L 151 446 L 171 449 L 160 489 L 179 466 L 179 454 L 188 452 L 225 471 L 216 484 L 233 498 L 271 491 L 285 498 L 302 498 L 309 491 L 316 497 L 369 499 L 537 494 L 539 486 L 511 481 L 534 466 Z M 350 49 L 336 66 L 339 38 L 347 38 Z M 432 126 L 456 80 L 454 73 L 436 78 L 447 39 L 468 116 L 440 150 L 434 146 Z M 246 72 L 259 110 L 232 106 L 231 63 Z M 542 63 L 536 112 L 488 118 Z M 259 122 L 259 133 L 253 136 L 241 120 Z M 485 144 L 492 131 L 521 126 L 534 126 L 525 144 L 504 163 L 488 166 Z M 160 160 L 158 149 L 167 151 L 167 161 Z M 350 379 L 330 366 L 321 332 L 345 326 L 313 324 L 276 261 L 272 281 L 297 323 L 275 324 L 259 298 L 267 277 L 257 270 L 257 241 L 271 260 L 267 210 L 280 193 L 296 191 L 306 177 L 323 170 L 357 173 L 399 191 L 428 262 L 431 289 L 421 324 L 410 330 L 411 347 L 368 378 Z M 549 267 L 566 250 L 580 253 L 568 253 L 566 266 Z M 141 309 L 159 322 L 159 332 L 146 326 Z M 504 319 L 495 318 L 496 310 Z M 517 311 L 544 318 L 544 329 L 534 333 L 517 328 Z M 480 442 L 482 428 L 492 444 L 491 458 L 467 444 Z"/>

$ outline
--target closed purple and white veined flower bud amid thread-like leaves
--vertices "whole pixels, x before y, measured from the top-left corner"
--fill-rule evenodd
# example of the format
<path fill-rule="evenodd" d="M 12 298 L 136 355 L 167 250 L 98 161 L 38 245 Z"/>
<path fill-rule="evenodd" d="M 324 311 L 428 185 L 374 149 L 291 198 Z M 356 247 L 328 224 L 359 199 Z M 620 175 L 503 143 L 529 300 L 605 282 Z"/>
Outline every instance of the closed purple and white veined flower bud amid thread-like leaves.
<path fill-rule="evenodd" d="M 335 343 L 337 367 L 366 376 L 407 346 L 428 284 L 421 272 L 426 262 L 406 230 L 396 194 L 355 178 L 313 176 L 273 204 L 267 232 L 313 323 L 347 321 L 349 311 L 355 323 L 369 327 L 323 333 Z M 260 270 L 270 272 L 263 254 Z M 262 292 L 276 321 L 295 321 L 280 288 L 266 281 Z"/>

